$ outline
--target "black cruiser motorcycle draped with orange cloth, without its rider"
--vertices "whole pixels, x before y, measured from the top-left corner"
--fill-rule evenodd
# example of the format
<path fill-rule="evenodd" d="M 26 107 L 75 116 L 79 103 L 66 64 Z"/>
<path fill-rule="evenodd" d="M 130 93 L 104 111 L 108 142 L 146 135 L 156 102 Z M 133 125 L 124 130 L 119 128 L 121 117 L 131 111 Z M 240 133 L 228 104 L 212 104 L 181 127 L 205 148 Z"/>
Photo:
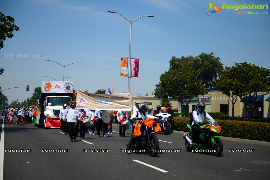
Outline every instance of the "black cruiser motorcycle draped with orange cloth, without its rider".
<path fill-rule="evenodd" d="M 137 118 L 139 121 L 144 121 L 142 118 Z M 156 122 L 156 119 L 154 119 Z M 152 128 L 147 128 L 145 124 L 141 124 L 141 135 L 136 139 L 136 142 L 131 146 L 132 150 L 148 150 L 149 155 L 155 157 L 159 150 L 158 138 Z M 130 134 L 130 133 L 127 133 Z"/>

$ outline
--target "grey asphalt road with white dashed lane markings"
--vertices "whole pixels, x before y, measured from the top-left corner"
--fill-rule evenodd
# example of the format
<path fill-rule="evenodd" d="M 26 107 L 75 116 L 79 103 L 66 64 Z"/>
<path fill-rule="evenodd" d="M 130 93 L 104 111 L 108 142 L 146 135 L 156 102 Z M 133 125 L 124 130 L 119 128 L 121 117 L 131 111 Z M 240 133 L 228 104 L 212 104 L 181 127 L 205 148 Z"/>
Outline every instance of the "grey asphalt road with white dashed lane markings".
<path fill-rule="evenodd" d="M 211 153 L 186 151 L 181 134 L 159 133 L 160 149 L 181 152 L 158 153 L 157 157 L 150 157 L 147 152 L 127 155 L 120 150 L 126 149 L 130 136 L 119 137 L 119 126 L 116 125 L 113 125 L 113 131 L 105 138 L 87 133 L 84 141 L 77 138 L 77 142 L 70 142 L 69 135 L 60 133 L 59 129 L 5 124 L 4 149 L 1 149 L 4 151 L 4 174 L 0 176 L 3 179 L 109 180 L 269 179 L 270 176 L 269 146 L 222 140 L 223 153 L 215 157 Z M 22 149 L 31 152 L 5 152 Z M 108 152 L 83 152 L 89 149 Z M 255 152 L 229 152 L 235 149 Z"/>

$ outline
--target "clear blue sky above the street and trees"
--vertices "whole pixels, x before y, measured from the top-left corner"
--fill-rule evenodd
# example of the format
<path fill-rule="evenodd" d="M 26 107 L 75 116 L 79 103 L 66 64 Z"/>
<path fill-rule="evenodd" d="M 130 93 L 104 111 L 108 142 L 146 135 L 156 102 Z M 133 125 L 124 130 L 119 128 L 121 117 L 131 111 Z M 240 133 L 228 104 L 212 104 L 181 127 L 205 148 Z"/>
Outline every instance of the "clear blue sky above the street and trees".
<path fill-rule="evenodd" d="M 0 11 L 15 18 L 20 30 L 5 40 L 0 50 L 2 91 L 8 100 L 31 97 L 41 81 L 63 77 L 73 81 L 76 90 L 94 93 L 114 88 L 123 93 L 128 78 L 120 77 L 120 57 L 129 56 L 129 28 L 132 23 L 131 57 L 139 58 L 139 78 L 131 78 L 131 93 L 151 94 L 159 77 L 168 70 L 171 56 L 197 56 L 214 52 L 225 66 L 248 62 L 270 68 L 270 12 L 239 15 L 222 9 L 227 4 L 266 4 L 269 1 L 212 1 L 220 13 L 207 16 L 209 1 L 131 0 L 64 1 L 2 0 Z M 270 3 L 269 3 L 270 7 Z M 248 11 L 249 9 L 240 9 Z M 268 11 L 250 9 L 249 11 Z M 239 11 L 239 10 L 238 10 Z M 8 58 L 7 55 L 31 54 L 41 58 Z M 50 77 L 44 77 L 50 76 Z"/>

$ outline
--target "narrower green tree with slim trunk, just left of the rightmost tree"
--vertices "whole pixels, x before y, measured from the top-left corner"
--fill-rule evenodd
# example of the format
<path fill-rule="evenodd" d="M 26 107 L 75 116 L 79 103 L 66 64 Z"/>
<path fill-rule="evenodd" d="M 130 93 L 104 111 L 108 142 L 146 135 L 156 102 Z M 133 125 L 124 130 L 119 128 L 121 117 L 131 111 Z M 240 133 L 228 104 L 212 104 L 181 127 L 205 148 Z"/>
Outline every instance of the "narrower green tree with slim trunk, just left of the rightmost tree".
<path fill-rule="evenodd" d="M 225 67 L 218 70 L 217 81 L 215 85 L 218 90 L 222 91 L 223 94 L 227 95 L 230 101 L 232 102 L 232 119 L 234 119 L 234 105 L 238 100 L 238 86 L 239 82 L 237 81 L 237 74 L 235 73 L 235 67 Z"/>

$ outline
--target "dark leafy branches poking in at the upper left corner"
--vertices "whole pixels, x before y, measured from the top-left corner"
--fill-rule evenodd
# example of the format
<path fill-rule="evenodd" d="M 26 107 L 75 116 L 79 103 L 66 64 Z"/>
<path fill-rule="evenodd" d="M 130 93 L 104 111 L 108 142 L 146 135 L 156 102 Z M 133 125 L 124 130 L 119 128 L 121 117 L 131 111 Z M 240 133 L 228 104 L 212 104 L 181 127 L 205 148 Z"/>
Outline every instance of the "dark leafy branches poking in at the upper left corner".
<path fill-rule="evenodd" d="M 18 31 L 20 28 L 14 24 L 14 18 L 5 16 L 0 12 L 0 49 L 4 47 L 6 38 L 12 38 L 13 31 Z"/>

